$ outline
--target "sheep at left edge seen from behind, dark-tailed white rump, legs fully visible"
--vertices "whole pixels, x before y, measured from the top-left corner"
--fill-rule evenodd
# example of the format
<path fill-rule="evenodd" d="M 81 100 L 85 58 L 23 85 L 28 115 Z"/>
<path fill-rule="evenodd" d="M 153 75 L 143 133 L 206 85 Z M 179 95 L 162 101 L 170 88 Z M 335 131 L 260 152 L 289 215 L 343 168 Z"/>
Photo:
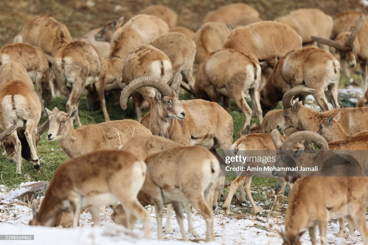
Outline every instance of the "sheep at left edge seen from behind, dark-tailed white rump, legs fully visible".
<path fill-rule="evenodd" d="M 7 69 L 7 67 L 11 69 Z M 10 62 L 3 65 L 8 74 L 1 72 L 0 91 L 0 122 L 4 129 L 17 126 L 8 137 L 15 148 L 17 174 L 22 174 L 22 143 L 18 134 L 26 138 L 26 144 L 31 151 L 31 161 L 36 170 L 40 169 L 40 160 L 37 156 L 36 142 L 38 141 L 37 125 L 41 118 L 41 103 L 33 88 L 24 66 Z M 14 80 L 13 80 L 14 79 Z M 26 147 L 24 144 L 24 147 Z M 27 148 L 28 148 L 27 147 Z"/>

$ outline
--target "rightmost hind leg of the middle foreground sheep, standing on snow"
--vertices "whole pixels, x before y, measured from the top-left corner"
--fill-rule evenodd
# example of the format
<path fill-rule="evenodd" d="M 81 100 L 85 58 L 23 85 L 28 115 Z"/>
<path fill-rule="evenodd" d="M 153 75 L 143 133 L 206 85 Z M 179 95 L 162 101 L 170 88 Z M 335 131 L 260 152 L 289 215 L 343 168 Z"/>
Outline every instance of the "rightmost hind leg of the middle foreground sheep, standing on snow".
<path fill-rule="evenodd" d="M 203 195 L 188 196 L 190 203 L 197 209 L 198 213 L 204 217 L 206 221 L 206 242 L 215 241 L 215 233 L 213 231 L 213 211 L 209 207 Z"/>

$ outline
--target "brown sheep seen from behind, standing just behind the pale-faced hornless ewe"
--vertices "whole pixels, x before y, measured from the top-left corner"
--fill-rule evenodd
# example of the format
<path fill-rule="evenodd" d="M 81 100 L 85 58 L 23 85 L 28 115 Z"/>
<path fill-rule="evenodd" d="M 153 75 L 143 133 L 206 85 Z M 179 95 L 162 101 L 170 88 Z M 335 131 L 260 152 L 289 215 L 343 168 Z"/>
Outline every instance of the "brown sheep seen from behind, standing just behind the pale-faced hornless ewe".
<path fill-rule="evenodd" d="M 82 91 L 86 88 L 89 105 L 97 93 L 105 121 L 110 120 L 104 93 L 106 63 L 98 48 L 85 42 L 72 41 L 57 53 L 52 70 L 61 93 L 68 99 L 68 112 L 78 109 Z M 82 126 L 78 115 L 76 119 L 78 126 Z M 70 123 L 73 125 L 73 119 Z"/>

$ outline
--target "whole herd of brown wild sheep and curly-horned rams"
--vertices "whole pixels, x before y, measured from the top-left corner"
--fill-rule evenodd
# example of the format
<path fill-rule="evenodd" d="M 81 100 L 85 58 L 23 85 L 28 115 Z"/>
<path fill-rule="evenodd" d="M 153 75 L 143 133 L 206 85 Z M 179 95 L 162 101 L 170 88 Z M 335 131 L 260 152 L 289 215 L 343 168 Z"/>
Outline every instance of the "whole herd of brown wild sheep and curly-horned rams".
<path fill-rule="evenodd" d="M 225 182 L 217 148 L 235 155 L 280 151 L 279 166 L 288 154 L 308 166 L 321 165 L 318 152 L 303 151 L 314 149 L 313 143 L 324 150 L 368 149 L 368 22 L 362 12 L 330 17 L 303 8 L 263 21 L 257 10 L 236 3 L 208 12 L 196 32 L 176 26 L 177 18 L 168 7 L 150 6 L 125 24 L 122 17 L 73 40 L 67 26 L 40 15 L 0 49 L 0 141 L 17 173 L 22 173 L 22 158 L 42 171 L 37 143 L 47 130 L 47 139 L 59 141 L 71 158 L 56 170 L 40 207 L 37 200 L 32 203 L 31 225 L 59 226 L 64 212 L 70 212 L 77 227 L 80 211 L 88 209 L 98 226 L 100 207 L 113 205 L 114 222 L 132 229 L 138 218 L 149 239 L 144 207 L 152 205 L 163 239 L 162 210 L 168 205 L 168 216 L 173 208 L 186 241 L 184 204 L 189 232 L 198 236 L 193 206 L 206 221 L 205 240 L 214 241 L 213 210 Z M 347 65 L 357 63 L 364 97 L 356 108 L 340 108 L 340 68 L 349 76 Z M 181 88 L 198 99 L 179 100 Z M 106 122 L 82 125 L 78 104 L 84 89 L 88 106 L 99 102 Z M 132 98 L 139 122 L 110 121 L 105 95 L 117 93 L 124 110 Z M 308 94 L 322 112 L 304 106 Z M 67 112 L 45 107 L 61 95 Z M 244 114 L 235 143 L 230 98 Z M 283 109 L 275 109 L 280 101 Z M 151 110 L 143 116 L 145 108 Z M 48 118 L 38 126 L 42 114 Z M 250 126 L 252 116 L 259 125 Z M 261 213 L 251 194 L 254 174 L 231 182 L 225 214 L 230 215 L 237 189 L 239 201 L 247 196 L 254 213 Z M 347 235 L 346 219 L 349 235 L 356 229 L 368 244 L 367 177 L 277 178 L 277 203 L 286 184 L 293 186 L 285 231 L 279 232 L 284 244 L 300 244 L 305 228 L 316 244 L 316 226 L 326 244 L 328 220 L 335 217 L 339 236 Z M 172 230 L 170 222 L 165 230 Z"/>

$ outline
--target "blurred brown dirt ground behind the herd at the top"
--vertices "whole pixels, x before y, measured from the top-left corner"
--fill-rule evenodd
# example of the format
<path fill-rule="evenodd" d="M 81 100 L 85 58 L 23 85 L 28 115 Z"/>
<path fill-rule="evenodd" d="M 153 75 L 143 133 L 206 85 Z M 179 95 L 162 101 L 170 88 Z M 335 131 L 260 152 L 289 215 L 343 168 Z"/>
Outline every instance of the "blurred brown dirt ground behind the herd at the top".
<path fill-rule="evenodd" d="M 178 13 L 178 25 L 198 29 L 206 12 L 236 0 L 1 0 L 0 47 L 11 43 L 35 15 L 47 14 L 63 22 L 74 38 L 111 19 L 129 19 L 152 4 L 166 5 Z M 240 2 L 240 1 L 239 1 Z M 320 8 L 329 15 L 346 10 L 367 10 L 360 0 L 247 0 L 262 19 L 272 20 L 296 8 Z"/>

